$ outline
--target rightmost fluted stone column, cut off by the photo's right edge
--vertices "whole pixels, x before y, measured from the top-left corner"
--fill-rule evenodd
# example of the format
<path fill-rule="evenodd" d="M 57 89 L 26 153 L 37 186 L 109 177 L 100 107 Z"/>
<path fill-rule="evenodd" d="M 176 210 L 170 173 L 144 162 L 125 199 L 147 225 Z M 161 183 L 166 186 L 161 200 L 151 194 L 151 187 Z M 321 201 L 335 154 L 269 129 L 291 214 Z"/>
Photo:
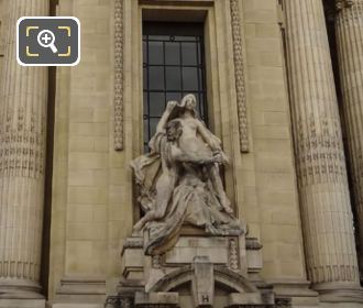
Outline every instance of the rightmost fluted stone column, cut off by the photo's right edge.
<path fill-rule="evenodd" d="M 363 0 L 337 1 L 336 33 L 350 167 L 363 257 Z M 363 260 L 361 260 L 363 266 Z"/>

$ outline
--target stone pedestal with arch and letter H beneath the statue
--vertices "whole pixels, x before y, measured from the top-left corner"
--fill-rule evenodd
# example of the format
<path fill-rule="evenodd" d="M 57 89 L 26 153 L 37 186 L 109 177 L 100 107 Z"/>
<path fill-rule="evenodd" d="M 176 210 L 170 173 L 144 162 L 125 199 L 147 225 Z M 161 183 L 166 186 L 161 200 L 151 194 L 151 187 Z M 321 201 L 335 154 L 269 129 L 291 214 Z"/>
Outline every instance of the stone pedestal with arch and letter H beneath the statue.
<path fill-rule="evenodd" d="M 146 238 L 147 232 L 127 240 L 119 295 L 108 299 L 110 307 L 112 301 L 114 307 L 273 307 L 272 286 L 258 277 L 262 246 L 256 239 L 246 245 L 243 235 L 180 235 L 172 250 L 150 256 Z"/>

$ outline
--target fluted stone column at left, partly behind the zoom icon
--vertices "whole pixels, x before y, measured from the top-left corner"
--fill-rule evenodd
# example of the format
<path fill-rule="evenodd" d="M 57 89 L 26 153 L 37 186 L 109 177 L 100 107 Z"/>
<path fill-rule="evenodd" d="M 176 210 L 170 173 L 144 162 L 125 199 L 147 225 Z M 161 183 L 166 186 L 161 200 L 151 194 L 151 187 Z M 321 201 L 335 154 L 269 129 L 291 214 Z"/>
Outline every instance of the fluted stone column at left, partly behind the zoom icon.
<path fill-rule="evenodd" d="M 47 68 L 16 63 L 15 26 L 20 16 L 47 15 L 48 0 L 11 0 L 8 7 L 0 91 L 0 307 L 3 298 L 42 298 L 47 102 Z"/>

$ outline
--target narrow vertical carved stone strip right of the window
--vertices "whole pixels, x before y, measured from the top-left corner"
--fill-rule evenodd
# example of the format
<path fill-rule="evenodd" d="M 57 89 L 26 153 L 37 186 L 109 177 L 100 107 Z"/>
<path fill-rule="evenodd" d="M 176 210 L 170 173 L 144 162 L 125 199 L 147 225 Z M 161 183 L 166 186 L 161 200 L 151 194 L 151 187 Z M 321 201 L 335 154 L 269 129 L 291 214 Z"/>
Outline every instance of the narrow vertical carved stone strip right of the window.
<path fill-rule="evenodd" d="M 249 152 L 249 130 L 239 1 L 230 0 L 230 8 L 233 37 L 235 92 L 239 116 L 240 148 L 242 153 L 246 153 Z"/>

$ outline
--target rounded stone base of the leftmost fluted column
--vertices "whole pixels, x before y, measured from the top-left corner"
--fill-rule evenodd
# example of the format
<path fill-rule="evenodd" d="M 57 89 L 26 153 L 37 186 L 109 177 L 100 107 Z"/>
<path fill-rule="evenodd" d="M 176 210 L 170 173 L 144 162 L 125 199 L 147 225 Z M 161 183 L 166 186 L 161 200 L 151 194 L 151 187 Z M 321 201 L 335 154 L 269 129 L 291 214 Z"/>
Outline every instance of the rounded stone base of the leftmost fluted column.
<path fill-rule="evenodd" d="M 32 280 L 0 278 L 0 307 L 4 307 L 1 306 L 1 302 L 4 299 L 44 300 L 44 296 L 41 294 L 41 292 L 42 292 L 42 287 L 37 283 Z"/>

